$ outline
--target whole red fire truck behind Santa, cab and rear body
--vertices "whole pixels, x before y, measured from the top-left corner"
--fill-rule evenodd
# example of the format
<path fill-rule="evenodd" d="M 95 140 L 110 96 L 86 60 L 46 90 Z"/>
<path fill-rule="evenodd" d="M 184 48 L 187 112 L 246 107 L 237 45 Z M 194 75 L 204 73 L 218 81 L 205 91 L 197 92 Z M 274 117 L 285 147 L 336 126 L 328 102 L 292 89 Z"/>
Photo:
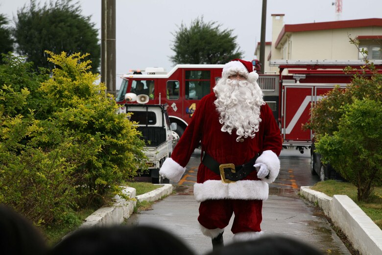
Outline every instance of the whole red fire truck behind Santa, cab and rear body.
<path fill-rule="evenodd" d="M 382 67 L 382 61 L 374 64 Z M 295 147 L 301 153 L 310 148 L 312 174 L 318 173 L 321 179 L 330 178 L 330 170 L 321 164 L 311 147 L 312 131 L 302 126 L 309 120 L 313 103 L 335 85 L 344 88 L 350 83 L 354 72 L 345 74 L 343 69 L 351 66 L 359 70 L 364 62 L 271 60 L 270 65 L 278 66 L 279 74 L 260 74 L 258 83 L 280 127 L 283 147 Z M 126 74 L 122 76 L 116 101 L 124 104 L 125 94 L 135 93 L 147 95 L 148 104 L 168 104 L 170 122 L 177 124 L 173 130 L 176 141 L 190 123 L 202 97 L 212 92 L 222 68 L 223 65 L 176 65 L 169 73 L 163 68 L 146 68 L 143 73 Z"/>

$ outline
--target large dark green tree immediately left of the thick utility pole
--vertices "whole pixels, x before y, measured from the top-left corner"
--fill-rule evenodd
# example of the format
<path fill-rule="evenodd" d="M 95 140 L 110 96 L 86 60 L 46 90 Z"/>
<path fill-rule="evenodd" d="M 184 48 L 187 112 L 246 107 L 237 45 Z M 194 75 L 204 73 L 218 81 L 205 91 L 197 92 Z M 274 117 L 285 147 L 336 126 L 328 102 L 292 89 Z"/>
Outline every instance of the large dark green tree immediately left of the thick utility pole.
<path fill-rule="evenodd" d="M 78 5 L 78 3 L 77 3 Z M 28 62 L 34 63 L 34 68 L 54 68 L 48 62 L 46 50 L 56 54 L 67 52 L 89 53 L 92 61 L 92 72 L 97 72 L 100 64 L 100 45 L 98 31 L 90 17 L 81 15 L 79 6 L 72 0 L 50 1 L 43 7 L 30 0 L 30 5 L 17 12 L 16 27 L 13 31 L 17 52 L 26 56 Z"/>

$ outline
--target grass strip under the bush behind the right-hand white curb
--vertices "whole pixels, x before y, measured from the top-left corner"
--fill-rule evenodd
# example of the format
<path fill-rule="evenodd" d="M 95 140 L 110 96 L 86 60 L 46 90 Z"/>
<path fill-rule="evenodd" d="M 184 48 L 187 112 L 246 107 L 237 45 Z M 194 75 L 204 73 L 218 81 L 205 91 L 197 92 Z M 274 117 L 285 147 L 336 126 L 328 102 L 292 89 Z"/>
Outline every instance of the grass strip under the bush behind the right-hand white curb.
<path fill-rule="evenodd" d="M 372 195 L 366 202 L 357 201 L 357 187 L 349 182 L 335 180 L 319 181 L 311 189 L 334 195 L 347 195 L 361 208 L 370 219 L 382 229 L 382 187 L 375 187 Z"/>

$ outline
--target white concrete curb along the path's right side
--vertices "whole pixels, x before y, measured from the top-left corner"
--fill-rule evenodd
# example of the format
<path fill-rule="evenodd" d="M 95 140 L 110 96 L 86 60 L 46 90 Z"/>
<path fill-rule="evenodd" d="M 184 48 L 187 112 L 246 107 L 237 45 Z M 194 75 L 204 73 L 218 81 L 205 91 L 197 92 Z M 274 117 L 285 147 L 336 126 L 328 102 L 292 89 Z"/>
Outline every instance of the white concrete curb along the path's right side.
<path fill-rule="evenodd" d="M 334 195 L 332 198 L 308 186 L 302 186 L 300 194 L 318 204 L 360 254 L 382 255 L 382 230 L 348 196 Z"/>

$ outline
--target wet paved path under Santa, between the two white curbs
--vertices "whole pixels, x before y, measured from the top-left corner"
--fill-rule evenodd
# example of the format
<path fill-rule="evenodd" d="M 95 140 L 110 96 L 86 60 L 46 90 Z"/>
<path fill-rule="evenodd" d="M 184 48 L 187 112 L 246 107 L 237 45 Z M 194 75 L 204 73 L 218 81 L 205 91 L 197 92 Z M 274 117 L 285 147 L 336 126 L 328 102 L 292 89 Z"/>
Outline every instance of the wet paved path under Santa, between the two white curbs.
<path fill-rule="evenodd" d="M 335 234 L 321 210 L 301 199 L 300 186 L 311 186 L 319 181 L 310 174 L 310 153 L 300 154 L 294 149 L 284 149 L 280 155 L 281 169 L 276 181 L 269 185 L 269 198 L 263 202 L 262 230 L 264 234 L 280 234 L 307 242 L 324 254 L 348 255 L 345 245 Z M 196 254 L 211 251 L 211 239 L 201 234 L 197 216 L 199 204 L 193 198 L 192 185 L 196 181 L 200 150 L 196 149 L 188 171 L 175 186 L 176 194 L 156 202 L 151 210 L 133 214 L 127 225 L 151 225 L 179 236 Z M 233 236 L 229 226 L 224 232 L 224 242 Z"/>

